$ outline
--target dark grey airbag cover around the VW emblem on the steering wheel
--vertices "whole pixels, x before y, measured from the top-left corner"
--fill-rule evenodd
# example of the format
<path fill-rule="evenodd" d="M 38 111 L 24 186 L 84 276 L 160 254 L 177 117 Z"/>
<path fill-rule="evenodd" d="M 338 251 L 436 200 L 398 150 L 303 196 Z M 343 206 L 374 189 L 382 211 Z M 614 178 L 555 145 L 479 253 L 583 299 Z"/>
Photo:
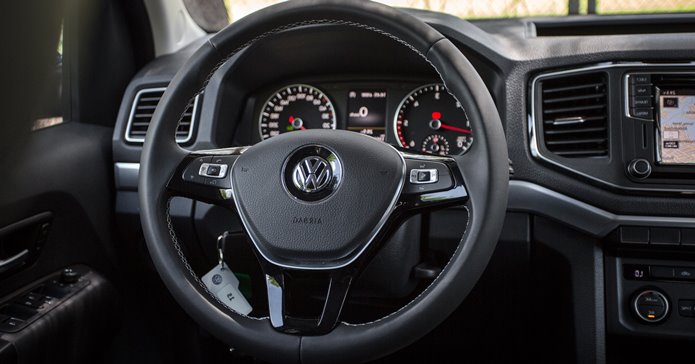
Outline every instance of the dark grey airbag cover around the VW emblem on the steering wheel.
<path fill-rule="evenodd" d="M 294 168 L 285 161 L 297 149 L 317 141 L 341 160 L 342 177 L 331 195 L 305 202 L 287 192 L 281 176 L 283 168 Z M 264 255 L 283 265 L 325 267 L 370 242 L 400 193 L 403 170 L 401 156 L 386 143 L 345 130 L 307 130 L 249 148 L 234 164 L 232 182 L 247 232 Z"/>

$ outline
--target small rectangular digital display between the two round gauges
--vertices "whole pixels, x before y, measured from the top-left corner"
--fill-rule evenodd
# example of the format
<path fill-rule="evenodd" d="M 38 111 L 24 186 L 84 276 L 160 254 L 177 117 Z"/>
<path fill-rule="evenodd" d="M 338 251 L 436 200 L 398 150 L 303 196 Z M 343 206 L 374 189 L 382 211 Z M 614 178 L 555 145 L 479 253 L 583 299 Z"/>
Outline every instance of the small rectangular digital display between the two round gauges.
<path fill-rule="evenodd" d="M 348 130 L 385 140 L 386 90 L 350 90 L 347 106 Z"/>

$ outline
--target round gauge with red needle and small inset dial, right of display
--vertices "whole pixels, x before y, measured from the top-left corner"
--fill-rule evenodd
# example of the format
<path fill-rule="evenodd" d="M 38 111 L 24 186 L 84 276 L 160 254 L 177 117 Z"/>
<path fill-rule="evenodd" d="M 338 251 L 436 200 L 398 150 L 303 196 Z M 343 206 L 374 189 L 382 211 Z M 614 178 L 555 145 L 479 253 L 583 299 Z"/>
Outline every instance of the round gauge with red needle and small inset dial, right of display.
<path fill-rule="evenodd" d="M 393 130 L 401 147 L 431 154 L 461 154 L 473 143 L 466 111 L 442 84 L 409 93 L 398 106 Z"/>

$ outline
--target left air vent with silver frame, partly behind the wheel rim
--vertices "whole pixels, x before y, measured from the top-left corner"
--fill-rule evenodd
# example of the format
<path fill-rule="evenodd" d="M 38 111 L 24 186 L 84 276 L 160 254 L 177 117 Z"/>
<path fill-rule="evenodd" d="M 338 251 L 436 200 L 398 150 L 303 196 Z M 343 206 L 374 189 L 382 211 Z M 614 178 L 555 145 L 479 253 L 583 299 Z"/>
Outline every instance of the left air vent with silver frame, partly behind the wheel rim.
<path fill-rule="evenodd" d="M 128 117 L 128 125 L 126 126 L 125 139 L 131 143 L 142 143 L 145 141 L 147 128 L 152 121 L 152 114 L 162 99 L 166 88 L 148 88 L 142 89 L 135 95 L 133 107 L 130 109 Z M 198 110 L 198 98 L 188 104 L 183 118 L 176 128 L 176 141 L 178 143 L 187 143 L 193 136 L 193 126 L 195 123 L 196 113 Z"/>

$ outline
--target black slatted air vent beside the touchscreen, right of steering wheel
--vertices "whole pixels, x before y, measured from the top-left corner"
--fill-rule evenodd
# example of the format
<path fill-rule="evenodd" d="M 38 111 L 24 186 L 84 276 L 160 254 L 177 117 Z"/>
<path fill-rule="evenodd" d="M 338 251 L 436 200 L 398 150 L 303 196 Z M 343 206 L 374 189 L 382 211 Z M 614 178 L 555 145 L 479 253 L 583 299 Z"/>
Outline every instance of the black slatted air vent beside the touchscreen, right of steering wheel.
<path fill-rule="evenodd" d="M 608 154 L 606 74 L 558 76 L 540 83 L 543 140 L 566 158 Z"/>

